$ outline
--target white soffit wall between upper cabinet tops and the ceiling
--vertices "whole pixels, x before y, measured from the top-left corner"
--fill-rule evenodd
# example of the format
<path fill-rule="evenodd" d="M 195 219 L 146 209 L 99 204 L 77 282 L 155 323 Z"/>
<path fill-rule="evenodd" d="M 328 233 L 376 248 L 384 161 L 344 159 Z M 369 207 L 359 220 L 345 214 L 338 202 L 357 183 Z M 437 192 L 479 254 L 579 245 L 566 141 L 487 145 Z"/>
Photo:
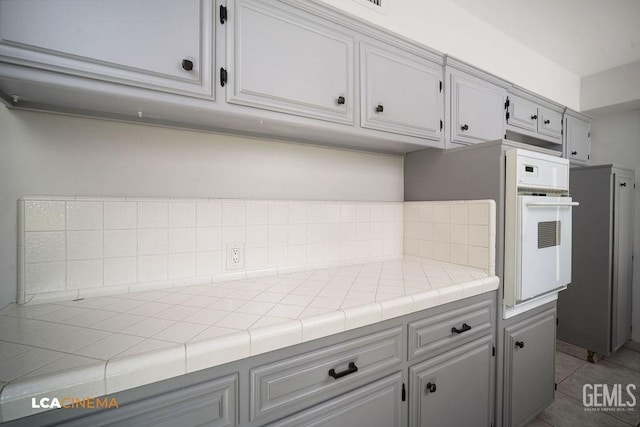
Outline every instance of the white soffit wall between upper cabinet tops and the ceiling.
<path fill-rule="evenodd" d="M 578 76 L 447 0 L 386 0 L 386 14 L 355 0 L 321 1 L 579 111 Z"/>

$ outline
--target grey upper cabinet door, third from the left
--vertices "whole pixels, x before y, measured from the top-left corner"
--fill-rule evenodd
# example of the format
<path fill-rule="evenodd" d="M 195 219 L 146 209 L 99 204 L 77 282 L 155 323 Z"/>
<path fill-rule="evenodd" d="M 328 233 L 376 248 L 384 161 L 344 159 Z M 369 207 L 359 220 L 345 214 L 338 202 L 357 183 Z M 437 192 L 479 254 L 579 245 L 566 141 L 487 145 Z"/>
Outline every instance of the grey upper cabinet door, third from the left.
<path fill-rule="evenodd" d="M 442 67 L 401 50 L 360 45 L 361 125 L 439 140 Z"/>

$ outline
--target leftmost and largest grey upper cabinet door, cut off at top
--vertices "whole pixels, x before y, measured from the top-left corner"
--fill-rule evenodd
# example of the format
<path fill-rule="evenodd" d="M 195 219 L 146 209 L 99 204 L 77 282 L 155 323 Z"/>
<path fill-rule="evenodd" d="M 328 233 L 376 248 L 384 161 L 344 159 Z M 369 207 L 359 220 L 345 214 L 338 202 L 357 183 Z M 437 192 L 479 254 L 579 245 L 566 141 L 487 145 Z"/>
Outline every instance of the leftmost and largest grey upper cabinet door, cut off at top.
<path fill-rule="evenodd" d="M 212 4 L 2 0 L 0 56 L 64 74 L 211 98 Z"/>

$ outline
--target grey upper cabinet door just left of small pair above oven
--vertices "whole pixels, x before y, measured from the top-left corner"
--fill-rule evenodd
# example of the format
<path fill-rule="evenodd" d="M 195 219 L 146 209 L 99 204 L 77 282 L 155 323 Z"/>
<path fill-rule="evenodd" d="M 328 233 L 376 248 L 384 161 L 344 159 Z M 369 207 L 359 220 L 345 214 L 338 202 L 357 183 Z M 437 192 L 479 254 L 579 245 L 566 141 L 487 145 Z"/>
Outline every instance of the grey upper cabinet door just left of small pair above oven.
<path fill-rule="evenodd" d="M 451 142 L 473 144 L 504 136 L 506 89 L 476 77 L 451 74 Z"/>

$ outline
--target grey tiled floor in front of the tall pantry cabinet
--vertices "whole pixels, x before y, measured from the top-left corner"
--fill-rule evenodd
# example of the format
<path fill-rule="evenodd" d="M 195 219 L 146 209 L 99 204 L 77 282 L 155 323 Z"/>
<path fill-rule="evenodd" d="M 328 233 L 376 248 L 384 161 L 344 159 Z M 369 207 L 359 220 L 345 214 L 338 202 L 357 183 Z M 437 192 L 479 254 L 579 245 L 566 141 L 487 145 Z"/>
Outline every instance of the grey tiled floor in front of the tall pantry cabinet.
<path fill-rule="evenodd" d="M 629 341 L 598 363 L 587 361 L 587 351 L 557 342 L 555 401 L 527 427 L 637 427 L 640 426 L 640 343 Z M 632 411 L 586 411 L 582 403 L 585 384 L 635 384 Z M 623 390 L 623 396 L 626 391 Z M 626 400 L 626 397 L 625 397 Z"/>

